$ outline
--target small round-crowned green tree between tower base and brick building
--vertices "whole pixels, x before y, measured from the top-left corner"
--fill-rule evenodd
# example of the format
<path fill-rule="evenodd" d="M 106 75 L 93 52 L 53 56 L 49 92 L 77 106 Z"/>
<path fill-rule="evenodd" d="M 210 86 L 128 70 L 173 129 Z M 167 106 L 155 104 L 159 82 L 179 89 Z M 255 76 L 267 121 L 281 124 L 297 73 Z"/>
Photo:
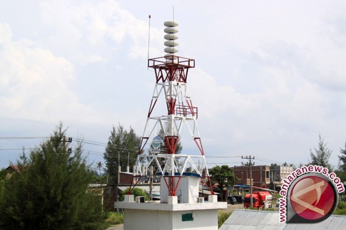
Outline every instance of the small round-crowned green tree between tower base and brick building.
<path fill-rule="evenodd" d="M 218 183 L 219 189 L 222 191 L 224 187 L 234 186 L 234 182 L 238 180 L 238 178 L 233 173 L 233 170 L 229 168 L 227 165 L 223 166 L 215 166 L 209 170 L 209 174 L 212 175 L 211 181 L 213 184 Z M 223 193 L 221 192 L 221 199 L 223 198 Z"/>

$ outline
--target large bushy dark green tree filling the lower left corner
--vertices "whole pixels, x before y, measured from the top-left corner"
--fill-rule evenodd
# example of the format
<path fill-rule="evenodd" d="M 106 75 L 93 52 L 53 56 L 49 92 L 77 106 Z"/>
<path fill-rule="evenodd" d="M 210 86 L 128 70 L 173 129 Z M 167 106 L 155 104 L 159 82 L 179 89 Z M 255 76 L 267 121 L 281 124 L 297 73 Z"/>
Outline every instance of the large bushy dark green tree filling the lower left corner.
<path fill-rule="evenodd" d="M 68 151 L 62 124 L 51 140 L 24 153 L 20 173 L 4 182 L 1 229 L 103 229 L 101 200 L 86 192 L 92 178 L 80 143 Z"/>

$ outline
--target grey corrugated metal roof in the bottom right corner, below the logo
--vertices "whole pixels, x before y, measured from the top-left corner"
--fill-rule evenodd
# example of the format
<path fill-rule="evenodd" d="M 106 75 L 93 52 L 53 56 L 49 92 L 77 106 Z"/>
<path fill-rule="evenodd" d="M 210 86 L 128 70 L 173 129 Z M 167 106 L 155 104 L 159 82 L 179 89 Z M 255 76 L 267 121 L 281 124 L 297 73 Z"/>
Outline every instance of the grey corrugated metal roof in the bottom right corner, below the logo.
<path fill-rule="evenodd" d="M 331 215 L 313 224 L 279 222 L 279 212 L 236 209 L 219 230 L 339 230 L 346 229 L 346 216 Z"/>

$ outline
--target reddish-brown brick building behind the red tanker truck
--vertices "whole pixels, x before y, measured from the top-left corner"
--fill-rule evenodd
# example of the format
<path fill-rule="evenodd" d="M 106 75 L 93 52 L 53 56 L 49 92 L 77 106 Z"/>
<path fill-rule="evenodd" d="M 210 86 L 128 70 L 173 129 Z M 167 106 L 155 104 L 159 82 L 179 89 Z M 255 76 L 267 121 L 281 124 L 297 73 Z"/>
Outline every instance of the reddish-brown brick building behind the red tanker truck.
<path fill-rule="evenodd" d="M 233 172 L 238 178 L 235 184 L 250 185 L 249 166 L 235 166 Z M 270 185 L 270 167 L 267 165 L 252 166 L 252 180 L 253 186 L 268 188 Z"/>

